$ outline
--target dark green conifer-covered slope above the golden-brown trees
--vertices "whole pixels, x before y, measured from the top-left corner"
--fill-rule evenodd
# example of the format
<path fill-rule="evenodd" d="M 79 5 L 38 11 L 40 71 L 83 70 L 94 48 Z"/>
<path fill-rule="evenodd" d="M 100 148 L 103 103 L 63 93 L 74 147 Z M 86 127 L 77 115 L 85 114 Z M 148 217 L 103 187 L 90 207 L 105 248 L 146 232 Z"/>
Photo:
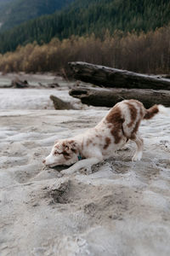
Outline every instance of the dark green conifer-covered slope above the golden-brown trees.
<path fill-rule="evenodd" d="M 0 35 L 0 51 L 14 50 L 19 44 L 52 38 L 69 38 L 72 34 L 94 32 L 102 37 L 105 30 L 150 31 L 170 20 L 169 0 L 76 0 L 67 9 L 42 16 Z"/>

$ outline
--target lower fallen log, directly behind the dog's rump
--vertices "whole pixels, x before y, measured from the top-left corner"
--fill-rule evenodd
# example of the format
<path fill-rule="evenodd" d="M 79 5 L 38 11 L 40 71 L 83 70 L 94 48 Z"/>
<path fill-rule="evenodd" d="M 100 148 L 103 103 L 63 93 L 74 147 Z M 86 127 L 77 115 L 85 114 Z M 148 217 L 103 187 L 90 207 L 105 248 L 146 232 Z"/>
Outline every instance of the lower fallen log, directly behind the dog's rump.
<path fill-rule="evenodd" d="M 80 99 L 83 104 L 95 107 L 111 108 L 124 99 L 136 99 L 143 102 L 145 108 L 150 108 L 154 104 L 170 107 L 170 91 L 168 90 L 76 88 L 70 90 L 69 94 Z"/>

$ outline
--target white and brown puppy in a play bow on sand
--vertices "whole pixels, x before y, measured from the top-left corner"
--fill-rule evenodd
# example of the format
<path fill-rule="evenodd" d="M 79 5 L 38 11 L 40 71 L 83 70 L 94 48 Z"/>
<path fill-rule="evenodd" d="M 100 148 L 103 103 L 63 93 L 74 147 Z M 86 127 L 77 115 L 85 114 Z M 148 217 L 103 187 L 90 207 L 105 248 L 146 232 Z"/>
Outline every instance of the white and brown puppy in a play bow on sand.
<path fill-rule="evenodd" d="M 145 109 L 136 100 L 118 102 L 94 128 L 76 137 L 56 141 L 43 163 L 49 167 L 74 164 L 61 171 L 62 174 L 71 174 L 82 168 L 89 169 L 111 157 L 128 140 L 132 140 L 137 146 L 132 160 L 141 160 L 143 139 L 138 133 L 140 122 L 142 119 L 151 119 L 160 112 L 167 113 L 167 108 L 154 105 Z"/>

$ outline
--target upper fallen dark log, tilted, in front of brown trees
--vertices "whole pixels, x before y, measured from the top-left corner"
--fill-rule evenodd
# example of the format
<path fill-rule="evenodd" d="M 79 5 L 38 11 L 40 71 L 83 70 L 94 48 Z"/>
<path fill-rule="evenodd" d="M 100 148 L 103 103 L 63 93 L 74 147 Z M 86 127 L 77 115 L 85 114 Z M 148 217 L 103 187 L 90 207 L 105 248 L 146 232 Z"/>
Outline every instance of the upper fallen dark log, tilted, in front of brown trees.
<path fill-rule="evenodd" d="M 86 62 L 70 62 L 69 66 L 75 79 L 91 84 L 111 88 L 170 90 L 170 79 L 156 78 Z"/>

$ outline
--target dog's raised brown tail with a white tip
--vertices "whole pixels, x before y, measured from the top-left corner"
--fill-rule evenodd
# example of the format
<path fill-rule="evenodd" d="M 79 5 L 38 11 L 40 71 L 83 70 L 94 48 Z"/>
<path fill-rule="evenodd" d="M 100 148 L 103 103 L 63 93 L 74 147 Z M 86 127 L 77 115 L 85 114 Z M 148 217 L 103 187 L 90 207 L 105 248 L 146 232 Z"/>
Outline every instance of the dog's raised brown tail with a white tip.
<path fill-rule="evenodd" d="M 169 115 L 169 110 L 168 108 L 165 108 L 161 104 L 154 105 L 153 107 L 146 109 L 144 119 L 151 119 L 156 115 L 156 113 L 163 113 L 163 114 Z"/>

